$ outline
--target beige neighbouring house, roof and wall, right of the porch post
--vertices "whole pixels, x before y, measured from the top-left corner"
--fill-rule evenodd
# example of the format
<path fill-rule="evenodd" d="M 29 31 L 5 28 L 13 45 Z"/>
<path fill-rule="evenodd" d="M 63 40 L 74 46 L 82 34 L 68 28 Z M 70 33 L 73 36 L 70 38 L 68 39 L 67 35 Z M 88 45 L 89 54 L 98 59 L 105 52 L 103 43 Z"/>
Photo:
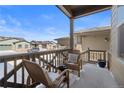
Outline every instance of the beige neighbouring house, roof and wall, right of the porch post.
<path fill-rule="evenodd" d="M 74 48 L 85 51 L 109 50 L 111 27 L 96 27 L 74 33 Z"/>

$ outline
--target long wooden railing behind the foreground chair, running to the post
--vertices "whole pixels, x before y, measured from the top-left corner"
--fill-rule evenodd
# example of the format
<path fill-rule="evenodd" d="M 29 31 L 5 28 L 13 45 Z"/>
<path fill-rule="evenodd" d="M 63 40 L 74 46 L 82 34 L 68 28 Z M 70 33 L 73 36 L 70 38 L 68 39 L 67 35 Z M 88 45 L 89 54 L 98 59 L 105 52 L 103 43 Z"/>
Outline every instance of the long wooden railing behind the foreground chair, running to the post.
<path fill-rule="evenodd" d="M 50 71 L 56 72 L 56 67 L 63 64 L 70 49 L 22 53 L 0 56 L 0 86 L 26 87 L 28 73 L 22 65 L 23 59 L 32 60 L 40 66 L 50 64 Z"/>

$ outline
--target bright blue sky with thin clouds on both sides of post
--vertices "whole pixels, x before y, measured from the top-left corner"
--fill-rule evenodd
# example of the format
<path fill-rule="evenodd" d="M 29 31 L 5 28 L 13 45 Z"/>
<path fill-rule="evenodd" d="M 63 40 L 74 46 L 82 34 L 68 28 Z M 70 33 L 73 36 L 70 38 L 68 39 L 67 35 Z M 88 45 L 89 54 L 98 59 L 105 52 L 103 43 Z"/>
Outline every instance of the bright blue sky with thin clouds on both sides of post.
<path fill-rule="evenodd" d="M 74 31 L 108 26 L 111 11 L 103 11 L 74 21 Z M 69 36 L 69 19 L 56 6 L 0 6 L 0 36 L 31 40 L 54 40 Z"/>

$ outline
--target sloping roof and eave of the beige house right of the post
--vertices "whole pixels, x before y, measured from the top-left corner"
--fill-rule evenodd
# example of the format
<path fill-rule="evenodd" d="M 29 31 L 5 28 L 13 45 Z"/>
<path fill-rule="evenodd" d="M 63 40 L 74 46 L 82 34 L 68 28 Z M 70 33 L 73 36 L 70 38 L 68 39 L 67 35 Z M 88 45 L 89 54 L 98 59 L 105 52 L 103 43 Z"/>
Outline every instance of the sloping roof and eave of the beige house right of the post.
<path fill-rule="evenodd" d="M 90 29 L 83 29 L 74 33 L 74 35 L 80 36 L 91 36 L 91 35 L 109 35 L 111 31 L 110 26 L 106 27 L 95 27 Z"/>

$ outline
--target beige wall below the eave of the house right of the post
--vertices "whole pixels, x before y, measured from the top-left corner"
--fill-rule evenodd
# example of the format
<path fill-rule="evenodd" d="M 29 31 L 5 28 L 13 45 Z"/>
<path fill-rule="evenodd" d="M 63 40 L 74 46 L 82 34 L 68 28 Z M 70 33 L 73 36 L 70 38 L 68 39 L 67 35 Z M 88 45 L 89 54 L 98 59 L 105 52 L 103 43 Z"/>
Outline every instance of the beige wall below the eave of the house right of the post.
<path fill-rule="evenodd" d="M 110 38 L 109 35 L 82 37 L 80 42 L 75 41 L 75 49 L 80 51 L 85 51 L 88 48 L 92 50 L 109 50 L 110 40 L 106 42 L 106 37 Z"/>

